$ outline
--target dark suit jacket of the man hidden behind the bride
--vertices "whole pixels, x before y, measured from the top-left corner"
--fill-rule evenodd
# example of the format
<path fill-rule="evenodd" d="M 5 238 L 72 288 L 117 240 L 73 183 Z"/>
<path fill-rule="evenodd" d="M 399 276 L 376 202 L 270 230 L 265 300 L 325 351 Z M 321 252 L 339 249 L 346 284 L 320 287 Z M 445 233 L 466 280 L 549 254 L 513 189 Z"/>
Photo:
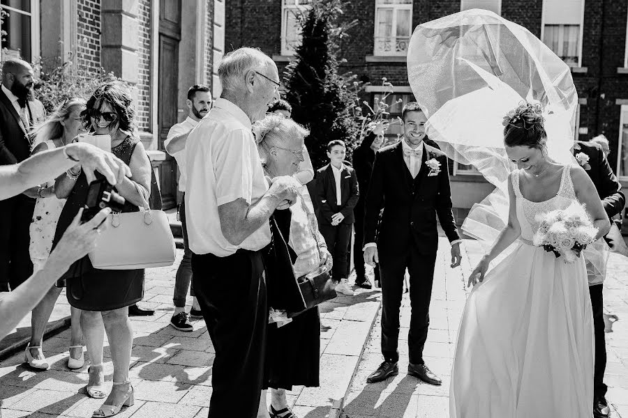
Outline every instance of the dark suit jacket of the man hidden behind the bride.
<path fill-rule="evenodd" d="M 626 198 L 622 192 L 620 192 L 622 186 L 617 180 L 617 176 L 613 173 L 611 165 L 608 164 L 608 160 L 604 157 L 604 151 L 597 144 L 592 144 L 585 141 L 576 141 L 574 144 L 574 156 L 578 153 L 585 153 L 589 156 L 590 169 L 585 171 L 591 178 L 591 181 L 597 189 L 599 199 L 602 201 L 602 206 L 606 210 L 608 219 L 613 219 L 613 216 L 622 211 L 625 206 Z"/>

